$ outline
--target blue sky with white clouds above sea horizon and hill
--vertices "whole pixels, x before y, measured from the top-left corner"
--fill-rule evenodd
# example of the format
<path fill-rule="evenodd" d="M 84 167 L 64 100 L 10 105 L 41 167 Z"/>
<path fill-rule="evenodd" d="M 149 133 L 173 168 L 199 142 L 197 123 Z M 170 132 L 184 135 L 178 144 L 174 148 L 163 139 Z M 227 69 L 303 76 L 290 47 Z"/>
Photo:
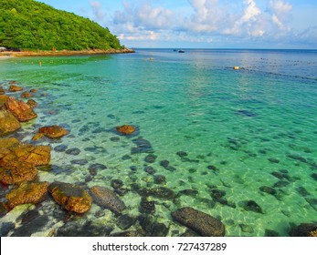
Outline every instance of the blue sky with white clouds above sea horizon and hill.
<path fill-rule="evenodd" d="M 40 0 L 127 47 L 317 48 L 316 0 Z"/>

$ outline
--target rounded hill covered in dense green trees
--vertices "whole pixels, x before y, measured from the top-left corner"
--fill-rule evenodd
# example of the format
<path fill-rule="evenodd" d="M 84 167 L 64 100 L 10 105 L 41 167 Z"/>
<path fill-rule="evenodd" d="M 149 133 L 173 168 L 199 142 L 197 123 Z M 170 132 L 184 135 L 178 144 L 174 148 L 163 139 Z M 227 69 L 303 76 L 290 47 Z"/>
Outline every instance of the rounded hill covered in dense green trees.
<path fill-rule="evenodd" d="M 0 46 L 24 50 L 123 47 L 108 28 L 33 0 L 0 1 Z"/>

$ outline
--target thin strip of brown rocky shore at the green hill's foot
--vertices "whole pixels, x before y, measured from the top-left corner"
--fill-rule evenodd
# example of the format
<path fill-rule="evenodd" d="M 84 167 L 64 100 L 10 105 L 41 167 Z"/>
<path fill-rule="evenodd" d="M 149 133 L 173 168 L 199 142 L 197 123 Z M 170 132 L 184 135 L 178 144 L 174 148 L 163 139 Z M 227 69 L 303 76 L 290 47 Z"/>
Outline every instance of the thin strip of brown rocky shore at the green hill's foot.
<path fill-rule="evenodd" d="M 90 56 L 90 55 L 109 55 L 109 54 L 127 54 L 134 53 L 135 51 L 129 48 L 123 49 L 109 49 L 109 50 L 61 50 L 61 51 L 47 51 L 47 50 L 37 50 L 37 51 L 21 51 L 12 52 L 4 51 L 0 52 L 0 59 L 5 59 L 9 57 L 24 57 L 24 56 Z"/>

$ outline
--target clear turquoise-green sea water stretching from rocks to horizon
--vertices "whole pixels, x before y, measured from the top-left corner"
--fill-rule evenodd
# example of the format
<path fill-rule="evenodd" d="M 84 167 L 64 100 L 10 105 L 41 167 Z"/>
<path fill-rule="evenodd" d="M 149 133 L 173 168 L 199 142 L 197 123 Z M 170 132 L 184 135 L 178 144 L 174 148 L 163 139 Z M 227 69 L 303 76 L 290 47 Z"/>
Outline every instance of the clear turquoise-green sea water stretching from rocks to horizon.
<path fill-rule="evenodd" d="M 176 193 L 196 190 L 175 200 L 150 198 L 155 201 L 153 219 L 169 228 L 168 236 L 185 231 L 170 216 L 185 206 L 221 219 L 227 236 L 264 236 L 266 230 L 288 236 L 291 224 L 316 221 L 315 70 L 316 51 L 178 54 L 171 49 L 140 49 L 130 55 L 2 60 L 0 80 L 4 87 L 8 80 L 16 80 L 40 91 L 35 97 L 37 119 L 19 132 L 24 141 L 29 142 L 41 126 L 70 129 L 68 137 L 49 142 L 53 170 L 41 172 L 41 180 L 111 188 L 111 179 L 121 179 L 130 190 L 121 197 L 128 206 L 124 214 L 132 217 L 140 214 L 141 197 L 131 191 L 136 184 Z M 48 96 L 40 97 L 43 93 Z M 140 133 L 126 138 L 112 131 L 123 124 L 137 126 Z M 147 140 L 153 149 L 133 153 L 135 138 Z M 55 151 L 59 145 L 79 148 L 80 153 Z M 180 157 L 180 151 L 187 156 Z M 157 156 L 155 162 L 144 161 L 149 154 Z M 71 164 L 74 159 L 88 163 Z M 163 160 L 173 168 L 164 168 Z M 107 169 L 90 177 L 88 168 L 94 163 Z M 155 169 L 154 175 L 144 170 L 148 166 Z M 166 184 L 155 183 L 158 175 Z M 263 186 L 276 193 L 263 192 Z M 213 189 L 226 195 L 212 198 Z M 256 201 L 263 213 L 244 209 L 248 200 Z M 24 231 L 19 216 L 30 209 L 49 219 L 30 234 L 47 235 L 65 227 L 61 210 L 47 200 L 37 208 L 18 207 L 1 219 L 16 224 L 7 235 Z M 109 210 L 96 205 L 83 217 L 71 219 L 79 226 L 92 222 L 92 229 L 110 226 L 111 233 L 122 231 L 115 221 Z M 136 224 L 129 230 L 137 228 Z"/>

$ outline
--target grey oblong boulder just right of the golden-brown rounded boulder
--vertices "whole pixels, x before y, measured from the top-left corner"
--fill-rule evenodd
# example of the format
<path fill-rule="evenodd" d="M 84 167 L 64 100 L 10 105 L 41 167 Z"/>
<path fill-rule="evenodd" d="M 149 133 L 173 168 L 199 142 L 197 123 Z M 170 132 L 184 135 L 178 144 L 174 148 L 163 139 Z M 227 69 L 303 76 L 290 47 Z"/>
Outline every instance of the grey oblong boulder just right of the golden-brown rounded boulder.
<path fill-rule="evenodd" d="M 117 215 L 122 214 L 125 204 L 122 199 L 111 190 L 100 186 L 94 186 L 90 189 L 94 202 L 100 207 L 110 209 Z"/>

